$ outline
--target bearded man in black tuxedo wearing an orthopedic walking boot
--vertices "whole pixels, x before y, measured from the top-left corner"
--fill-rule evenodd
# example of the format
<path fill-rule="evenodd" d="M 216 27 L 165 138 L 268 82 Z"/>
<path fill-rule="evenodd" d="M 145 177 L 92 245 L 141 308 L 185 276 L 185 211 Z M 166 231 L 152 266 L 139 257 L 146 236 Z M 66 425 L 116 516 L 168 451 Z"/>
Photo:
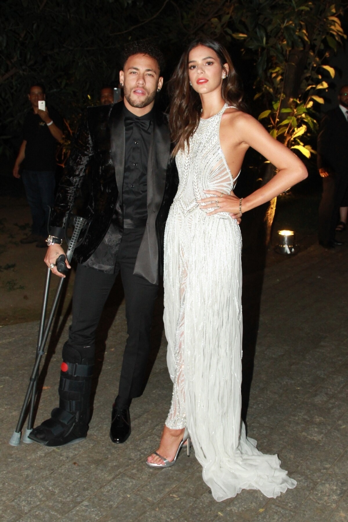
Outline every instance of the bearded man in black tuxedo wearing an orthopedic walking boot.
<path fill-rule="evenodd" d="M 163 57 L 153 46 L 128 46 L 120 72 L 124 101 L 87 110 L 58 189 L 45 263 L 62 277 L 54 265 L 63 253 L 62 227 L 90 165 L 86 216 L 91 224 L 75 251 L 73 323 L 63 347 L 59 407 L 30 434 L 33 441 L 47 446 L 79 442 L 87 435 L 95 330 L 118 272 L 125 291 L 128 339 L 112 408 L 113 442 L 127 440 L 130 402 L 145 386 L 164 226 L 177 188 L 169 128 L 154 107 L 163 84 L 162 64 Z"/>

